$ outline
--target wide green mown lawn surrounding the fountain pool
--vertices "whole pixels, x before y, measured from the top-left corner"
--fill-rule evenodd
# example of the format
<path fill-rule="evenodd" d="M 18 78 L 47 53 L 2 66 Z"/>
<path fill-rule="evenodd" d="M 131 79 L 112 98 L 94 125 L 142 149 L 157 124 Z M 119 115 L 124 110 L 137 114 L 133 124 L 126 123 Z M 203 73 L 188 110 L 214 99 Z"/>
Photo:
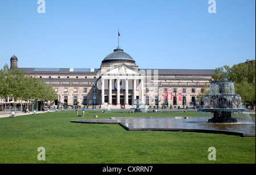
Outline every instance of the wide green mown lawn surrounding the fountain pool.
<path fill-rule="evenodd" d="M 0 118 L 0 163 L 171 164 L 253 163 L 255 138 L 224 134 L 127 131 L 113 124 L 72 123 L 71 119 L 135 116 L 197 116 L 187 113 L 101 113 L 75 111 Z M 79 113 L 81 115 L 81 111 Z M 255 117 L 255 115 L 254 115 Z M 37 159 L 39 147 L 46 160 Z M 216 148 L 216 161 L 208 148 Z"/>

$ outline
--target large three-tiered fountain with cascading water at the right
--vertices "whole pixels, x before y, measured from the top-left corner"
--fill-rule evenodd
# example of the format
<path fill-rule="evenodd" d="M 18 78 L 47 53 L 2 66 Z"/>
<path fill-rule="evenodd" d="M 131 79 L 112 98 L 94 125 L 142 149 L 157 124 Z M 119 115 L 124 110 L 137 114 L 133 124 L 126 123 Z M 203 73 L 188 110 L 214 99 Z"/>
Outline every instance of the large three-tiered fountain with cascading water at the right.
<path fill-rule="evenodd" d="M 234 83 L 230 81 L 213 81 L 210 83 L 210 93 L 204 96 L 204 106 L 198 112 L 213 113 L 209 123 L 236 123 L 232 113 L 247 112 L 242 107 L 241 96 L 234 92 Z"/>

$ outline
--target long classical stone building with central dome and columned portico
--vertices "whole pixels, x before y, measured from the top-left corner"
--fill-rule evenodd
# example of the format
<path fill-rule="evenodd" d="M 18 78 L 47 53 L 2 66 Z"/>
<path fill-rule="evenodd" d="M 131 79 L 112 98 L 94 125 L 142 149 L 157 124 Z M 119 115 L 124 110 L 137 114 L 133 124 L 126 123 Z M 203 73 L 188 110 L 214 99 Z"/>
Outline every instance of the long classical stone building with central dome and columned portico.
<path fill-rule="evenodd" d="M 11 67 L 18 58 L 11 57 Z M 96 108 L 126 108 L 140 99 L 144 106 L 200 105 L 197 95 L 209 86 L 214 70 L 141 69 L 122 49 L 114 49 L 101 62 L 100 68 L 23 68 L 24 74 L 52 84 L 59 94 L 56 99 L 67 105 Z M 59 99 L 60 98 L 60 99 Z"/>

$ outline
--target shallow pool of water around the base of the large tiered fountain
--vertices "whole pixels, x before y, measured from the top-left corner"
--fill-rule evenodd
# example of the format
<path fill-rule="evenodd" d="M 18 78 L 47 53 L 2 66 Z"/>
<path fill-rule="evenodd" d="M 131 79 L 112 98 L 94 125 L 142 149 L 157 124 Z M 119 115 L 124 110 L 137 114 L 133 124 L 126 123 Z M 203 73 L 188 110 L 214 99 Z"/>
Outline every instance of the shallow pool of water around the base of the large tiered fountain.
<path fill-rule="evenodd" d="M 208 123 L 207 117 L 115 117 L 129 129 L 195 129 L 224 130 L 238 133 L 255 134 L 255 118 L 252 122 L 243 123 Z"/>

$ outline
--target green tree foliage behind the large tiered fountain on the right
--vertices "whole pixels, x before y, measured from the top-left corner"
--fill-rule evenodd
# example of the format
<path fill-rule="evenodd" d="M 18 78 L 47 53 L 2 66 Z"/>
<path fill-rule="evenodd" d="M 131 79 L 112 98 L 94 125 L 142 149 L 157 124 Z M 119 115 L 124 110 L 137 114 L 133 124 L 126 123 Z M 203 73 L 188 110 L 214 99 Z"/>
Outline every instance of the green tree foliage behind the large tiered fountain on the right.
<path fill-rule="evenodd" d="M 214 80 L 230 80 L 234 83 L 236 93 L 247 103 L 255 104 L 255 59 L 246 60 L 232 67 L 223 66 L 215 69 Z"/>

